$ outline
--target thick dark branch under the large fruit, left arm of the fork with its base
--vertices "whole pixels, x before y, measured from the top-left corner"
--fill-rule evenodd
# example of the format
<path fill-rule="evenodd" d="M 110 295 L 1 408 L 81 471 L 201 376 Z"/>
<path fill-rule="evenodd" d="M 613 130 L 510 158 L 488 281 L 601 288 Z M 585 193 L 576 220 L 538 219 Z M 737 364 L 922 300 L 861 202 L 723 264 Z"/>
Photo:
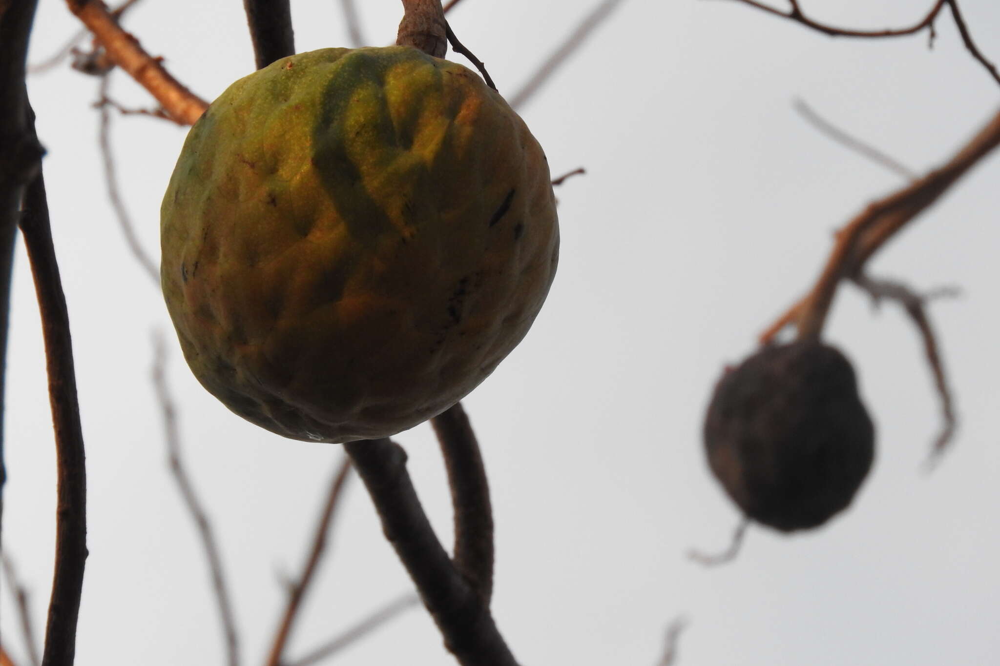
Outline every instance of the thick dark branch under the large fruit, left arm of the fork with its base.
<path fill-rule="evenodd" d="M 406 471 L 406 452 L 390 439 L 352 441 L 344 448 L 445 647 L 462 666 L 516 666 L 489 608 L 435 536 Z"/>

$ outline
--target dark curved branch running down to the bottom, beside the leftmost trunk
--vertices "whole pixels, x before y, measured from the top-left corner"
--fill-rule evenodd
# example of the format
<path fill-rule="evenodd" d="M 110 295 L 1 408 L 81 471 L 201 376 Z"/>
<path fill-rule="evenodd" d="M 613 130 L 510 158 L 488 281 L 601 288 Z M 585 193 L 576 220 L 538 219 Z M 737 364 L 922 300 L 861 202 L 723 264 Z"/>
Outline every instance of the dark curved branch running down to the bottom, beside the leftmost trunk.
<path fill-rule="evenodd" d="M 49 206 L 41 171 L 28 186 L 20 228 L 42 316 L 58 465 L 55 575 L 42 666 L 72 666 L 87 560 L 87 472 L 69 314 L 52 246 Z"/>

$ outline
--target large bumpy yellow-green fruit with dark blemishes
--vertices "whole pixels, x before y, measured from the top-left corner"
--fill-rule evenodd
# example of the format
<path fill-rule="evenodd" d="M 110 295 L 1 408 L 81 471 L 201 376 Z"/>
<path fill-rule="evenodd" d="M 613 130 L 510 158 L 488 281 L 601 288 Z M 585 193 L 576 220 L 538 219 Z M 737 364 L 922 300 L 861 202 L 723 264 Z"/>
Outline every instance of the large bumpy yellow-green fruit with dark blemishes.
<path fill-rule="evenodd" d="M 387 436 L 482 381 L 534 322 L 559 232 L 545 155 L 471 71 L 324 49 L 226 90 L 161 211 L 191 369 L 279 434 Z"/>

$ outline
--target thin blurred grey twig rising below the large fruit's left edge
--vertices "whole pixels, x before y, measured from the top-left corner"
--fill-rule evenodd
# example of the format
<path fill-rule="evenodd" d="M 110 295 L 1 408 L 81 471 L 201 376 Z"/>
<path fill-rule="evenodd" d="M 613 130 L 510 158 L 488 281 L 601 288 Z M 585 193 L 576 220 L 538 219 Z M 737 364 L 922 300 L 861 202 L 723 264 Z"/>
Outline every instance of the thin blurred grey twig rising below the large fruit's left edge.
<path fill-rule="evenodd" d="M 174 406 L 173 397 L 167 386 L 165 374 L 166 355 L 167 351 L 163 337 L 157 333 L 153 336 L 152 379 L 154 389 L 156 390 L 156 397 L 160 403 L 160 410 L 163 413 L 163 430 L 170 460 L 170 471 L 177 482 L 177 488 L 180 490 L 184 505 L 194 519 L 195 527 L 198 529 L 198 536 L 205 551 L 205 557 L 208 560 L 209 573 L 212 578 L 212 589 L 215 592 L 219 618 L 222 622 L 227 662 L 229 666 L 238 666 L 240 663 L 239 638 L 236 632 L 236 620 L 233 616 L 232 603 L 229 599 L 229 590 L 226 586 L 222 556 L 219 554 L 219 546 L 215 541 L 215 533 L 208 520 L 208 515 L 205 513 L 205 509 L 202 508 L 201 501 L 198 499 L 198 495 L 194 490 L 191 479 L 188 478 L 184 463 L 181 460 L 181 442 L 177 428 L 177 409 Z"/>

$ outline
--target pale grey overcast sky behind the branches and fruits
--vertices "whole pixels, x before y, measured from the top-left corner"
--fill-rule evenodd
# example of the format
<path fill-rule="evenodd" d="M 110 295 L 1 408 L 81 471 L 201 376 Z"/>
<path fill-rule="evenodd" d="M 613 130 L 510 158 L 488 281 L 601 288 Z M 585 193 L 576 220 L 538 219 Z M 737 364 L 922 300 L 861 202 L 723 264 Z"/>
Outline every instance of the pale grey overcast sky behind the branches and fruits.
<path fill-rule="evenodd" d="M 461 40 L 513 93 L 597 0 L 465 0 Z M 359 3 L 369 41 L 393 40 L 398 0 Z M 926 2 L 808 0 L 823 20 L 912 23 Z M 293 3 L 298 50 L 345 45 L 339 3 Z M 1000 61 L 1000 4 L 966 0 Z M 77 30 L 43 2 L 31 60 Z M 213 98 L 253 67 L 239 2 L 146 0 L 126 27 Z M 962 418 L 954 450 L 920 471 L 939 425 L 921 344 L 899 310 L 845 289 L 828 337 L 854 360 L 878 428 L 852 508 L 794 536 L 752 528 L 735 563 L 706 570 L 738 516 L 709 475 L 700 427 L 726 362 L 814 279 L 831 233 L 898 177 L 835 145 L 792 109 L 801 97 L 911 168 L 946 159 L 992 115 L 1000 86 L 950 18 L 896 41 L 829 39 L 735 2 L 626 0 L 522 115 L 554 173 L 562 256 L 524 342 L 465 401 L 497 522 L 494 613 L 530 664 L 649 665 L 679 614 L 683 666 L 995 663 L 1000 575 L 1000 160 L 985 161 L 879 255 L 874 272 L 958 285 L 933 308 Z M 449 56 L 458 62 L 461 57 Z M 240 420 L 185 366 L 158 289 L 112 216 L 96 150 L 97 81 L 63 67 L 30 81 L 76 351 L 88 453 L 90 559 L 80 666 L 221 664 L 221 632 L 191 520 L 168 475 L 149 381 L 167 333 L 190 471 L 223 545 L 246 663 L 259 663 L 340 455 Z M 116 99 L 148 106 L 116 74 Z M 158 255 L 162 193 L 185 131 L 115 119 L 126 204 Z M 34 293 L 19 249 L 10 339 L 4 543 L 41 627 L 51 580 L 55 477 Z M 441 536 L 450 507 L 426 425 L 397 438 Z M 356 479 L 355 479 L 356 480 Z M 409 589 L 360 483 L 349 489 L 294 657 Z M 5 642 L 14 616 L 0 601 Z M 14 639 L 12 648 L 23 655 Z M 422 609 L 350 651 L 344 666 L 451 663 Z M 24 660 L 21 660 L 25 663 Z"/>

